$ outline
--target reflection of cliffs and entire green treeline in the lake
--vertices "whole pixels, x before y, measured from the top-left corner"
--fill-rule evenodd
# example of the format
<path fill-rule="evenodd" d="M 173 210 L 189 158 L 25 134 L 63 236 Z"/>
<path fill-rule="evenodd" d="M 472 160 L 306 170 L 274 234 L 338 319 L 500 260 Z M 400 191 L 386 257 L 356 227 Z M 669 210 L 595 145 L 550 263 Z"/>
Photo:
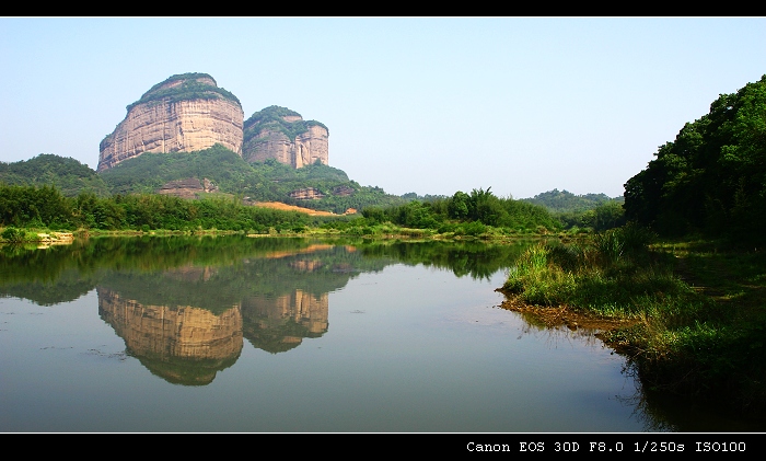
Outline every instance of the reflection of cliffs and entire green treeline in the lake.
<path fill-rule="evenodd" d="M 478 242 L 96 238 L 67 247 L 0 247 L 0 295 L 42 306 L 94 289 L 126 351 L 171 383 L 205 385 L 243 338 L 286 353 L 329 327 L 329 292 L 360 273 L 422 264 L 485 278 L 526 246 Z"/>

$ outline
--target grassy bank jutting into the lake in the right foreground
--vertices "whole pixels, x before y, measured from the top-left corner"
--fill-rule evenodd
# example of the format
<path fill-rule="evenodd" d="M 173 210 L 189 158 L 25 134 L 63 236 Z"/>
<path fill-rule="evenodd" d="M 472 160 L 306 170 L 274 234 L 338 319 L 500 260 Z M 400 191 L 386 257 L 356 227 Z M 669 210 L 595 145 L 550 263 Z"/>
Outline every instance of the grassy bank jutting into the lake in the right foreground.
<path fill-rule="evenodd" d="M 631 235 L 630 232 L 634 234 Z M 648 237 L 648 235 L 647 235 Z M 530 247 L 503 289 L 542 306 L 631 319 L 604 334 L 650 390 L 766 410 L 766 258 L 711 242 L 658 244 L 637 229 Z"/>

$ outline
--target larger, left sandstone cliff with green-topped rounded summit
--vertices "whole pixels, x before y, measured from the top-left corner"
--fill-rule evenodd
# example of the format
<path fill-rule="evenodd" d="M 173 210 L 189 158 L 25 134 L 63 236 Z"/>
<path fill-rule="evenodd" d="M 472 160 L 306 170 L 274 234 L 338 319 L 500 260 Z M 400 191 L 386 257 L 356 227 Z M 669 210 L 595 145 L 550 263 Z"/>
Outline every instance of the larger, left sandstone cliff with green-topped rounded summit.
<path fill-rule="evenodd" d="M 216 143 L 242 154 L 242 105 L 206 73 L 173 76 L 127 110 L 101 142 L 97 171 L 143 152 L 190 152 Z"/>

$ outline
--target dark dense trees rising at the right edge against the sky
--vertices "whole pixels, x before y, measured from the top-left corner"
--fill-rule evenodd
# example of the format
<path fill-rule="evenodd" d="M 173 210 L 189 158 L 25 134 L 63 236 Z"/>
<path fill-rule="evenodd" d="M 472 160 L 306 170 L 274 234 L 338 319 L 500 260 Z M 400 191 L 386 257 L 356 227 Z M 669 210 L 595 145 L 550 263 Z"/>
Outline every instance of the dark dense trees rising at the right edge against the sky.
<path fill-rule="evenodd" d="M 721 94 L 654 155 L 625 184 L 628 219 L 663 235 L 758 235 L 766 227 L 766 76 Z"/>

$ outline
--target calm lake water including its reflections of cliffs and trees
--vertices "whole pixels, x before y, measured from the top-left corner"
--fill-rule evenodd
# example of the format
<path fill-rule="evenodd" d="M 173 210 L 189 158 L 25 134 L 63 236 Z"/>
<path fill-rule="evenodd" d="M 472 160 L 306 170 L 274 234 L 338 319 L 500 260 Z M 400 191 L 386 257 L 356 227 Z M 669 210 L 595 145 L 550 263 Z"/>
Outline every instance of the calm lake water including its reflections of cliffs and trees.
<path fill-rule="evenodd" d="M 690 427 L 678 416 L 688 408 L 653 408 L 592 335 L 498 307 L 495 289 L 526 244 L 227 237 L 0 249 L 0 430 Z M 692 430 L 735 427 L 715 420 Z"/>

